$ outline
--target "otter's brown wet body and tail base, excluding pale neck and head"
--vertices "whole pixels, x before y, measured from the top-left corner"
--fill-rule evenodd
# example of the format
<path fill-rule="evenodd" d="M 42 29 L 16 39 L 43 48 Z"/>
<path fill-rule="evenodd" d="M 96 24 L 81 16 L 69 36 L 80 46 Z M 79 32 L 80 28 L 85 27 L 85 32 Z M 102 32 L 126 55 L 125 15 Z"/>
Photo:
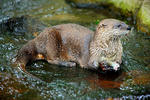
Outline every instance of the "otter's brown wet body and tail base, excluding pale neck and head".
<path fill-rule="evenodd" d="M 72 28 L 71 31 L 67 31 Z M 82 34 L 80 34 L 82 33 Z M 63 66 L 87 66 L 89 44 L 94 32 L 76 24 L 62 24 L 45 29 L 29 41 L 17 54 L 16 61 L 26 65 L 36 59 Z M 76 63 L 75 63 L 76 62 Z"/>

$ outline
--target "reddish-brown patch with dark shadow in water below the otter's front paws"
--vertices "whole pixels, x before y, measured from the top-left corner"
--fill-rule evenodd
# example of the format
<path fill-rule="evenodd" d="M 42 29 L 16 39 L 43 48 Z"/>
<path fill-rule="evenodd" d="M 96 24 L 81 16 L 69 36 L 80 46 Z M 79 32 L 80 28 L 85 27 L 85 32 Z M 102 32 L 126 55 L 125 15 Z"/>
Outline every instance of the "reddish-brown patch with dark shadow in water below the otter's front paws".
<path fill-rule="evenodd" d="M 94 71 L 93 71 L 94 72 Z M 97 76 L 88 76 L 86 80 L 91 84 L 93 89 L 119 89 L 123 83 L 126 73 L 119 71 L 97 72 Z"/>

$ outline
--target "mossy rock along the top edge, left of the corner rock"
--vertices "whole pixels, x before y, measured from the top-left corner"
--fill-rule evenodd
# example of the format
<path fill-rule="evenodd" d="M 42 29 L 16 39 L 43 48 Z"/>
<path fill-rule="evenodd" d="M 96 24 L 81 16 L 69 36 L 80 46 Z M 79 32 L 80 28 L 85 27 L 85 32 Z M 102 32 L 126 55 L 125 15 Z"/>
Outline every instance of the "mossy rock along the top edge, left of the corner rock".
<path fill-rule="evenodd" d="M 142 0 L 66 0 L 68 3 L 79 8 L 100 7 L 104 5 L 114 6 L 123 12 L 135 12 L 140 8 Z"/>

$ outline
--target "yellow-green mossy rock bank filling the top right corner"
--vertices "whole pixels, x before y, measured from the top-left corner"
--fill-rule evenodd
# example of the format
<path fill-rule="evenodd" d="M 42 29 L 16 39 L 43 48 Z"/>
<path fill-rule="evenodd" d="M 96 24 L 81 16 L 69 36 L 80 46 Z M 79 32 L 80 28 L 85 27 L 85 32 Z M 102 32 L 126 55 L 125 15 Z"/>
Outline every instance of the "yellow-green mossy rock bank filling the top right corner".
<path fill-rule="evenodd" d="M 74 7 L 105 8 L 115 7 L 126 17 L 132 16 L 138 30 L 150 34 L 150 1 L 149 0 L 66 0 Z"/>

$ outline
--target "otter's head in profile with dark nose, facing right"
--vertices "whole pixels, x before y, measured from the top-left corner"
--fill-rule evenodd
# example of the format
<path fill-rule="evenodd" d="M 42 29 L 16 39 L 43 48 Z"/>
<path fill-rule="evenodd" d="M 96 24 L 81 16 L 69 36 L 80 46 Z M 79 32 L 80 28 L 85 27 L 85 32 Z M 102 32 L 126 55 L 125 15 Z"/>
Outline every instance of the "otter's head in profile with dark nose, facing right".
<path fill-rule="evenodd" d="M 98 27 L 97 33 L 109 38 L 119 38 L 127 35 L 131 27 L 124 22 L 116 19 L 104 19 Z"/>

